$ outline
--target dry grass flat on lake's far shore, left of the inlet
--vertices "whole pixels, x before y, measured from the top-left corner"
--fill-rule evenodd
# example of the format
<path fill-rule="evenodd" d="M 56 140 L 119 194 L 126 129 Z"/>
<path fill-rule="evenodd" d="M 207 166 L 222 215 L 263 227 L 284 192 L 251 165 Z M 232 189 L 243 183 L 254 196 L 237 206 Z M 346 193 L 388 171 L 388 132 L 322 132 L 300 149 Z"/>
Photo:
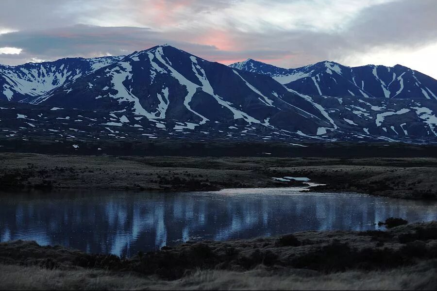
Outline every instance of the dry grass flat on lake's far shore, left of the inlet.
<path fill-rule="evenodd" d="M 247 162 L 0 153 L 0 188 L 10 184 L 20 190 L 50 185 L 46 188 L 205 191 L 287 186 L 253 171 Z"/>

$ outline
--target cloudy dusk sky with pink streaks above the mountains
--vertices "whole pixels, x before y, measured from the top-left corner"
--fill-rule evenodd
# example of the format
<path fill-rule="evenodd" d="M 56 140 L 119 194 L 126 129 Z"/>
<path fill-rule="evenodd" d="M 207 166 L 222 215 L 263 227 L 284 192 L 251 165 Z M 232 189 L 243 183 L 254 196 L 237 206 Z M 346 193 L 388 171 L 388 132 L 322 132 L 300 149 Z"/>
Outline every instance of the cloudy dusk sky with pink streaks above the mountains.
<path fill-rule="evenodd" d="M 225 65 L 405 65 L 437 79 L 437 0 L 1 0 L 0 64 L 169 44 Z"/>

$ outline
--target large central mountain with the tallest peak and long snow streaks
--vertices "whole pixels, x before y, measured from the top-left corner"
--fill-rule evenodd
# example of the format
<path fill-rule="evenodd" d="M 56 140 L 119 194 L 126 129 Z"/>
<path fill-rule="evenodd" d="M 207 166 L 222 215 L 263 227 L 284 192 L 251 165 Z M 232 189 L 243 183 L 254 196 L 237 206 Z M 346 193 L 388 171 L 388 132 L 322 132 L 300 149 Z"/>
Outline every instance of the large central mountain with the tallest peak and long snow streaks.
<path fill-rule="evenodd" d="M 268 76 L 208 62 L 171 46 L 135 52 L 26 102 L 132 114 L 158 128 L 204 124 L 316 131 L 331 122 L 311 98 Z M 127 116 L 127 115 L 126 115 Z M 293 122 L 284 122 L 293 120 Z"/>

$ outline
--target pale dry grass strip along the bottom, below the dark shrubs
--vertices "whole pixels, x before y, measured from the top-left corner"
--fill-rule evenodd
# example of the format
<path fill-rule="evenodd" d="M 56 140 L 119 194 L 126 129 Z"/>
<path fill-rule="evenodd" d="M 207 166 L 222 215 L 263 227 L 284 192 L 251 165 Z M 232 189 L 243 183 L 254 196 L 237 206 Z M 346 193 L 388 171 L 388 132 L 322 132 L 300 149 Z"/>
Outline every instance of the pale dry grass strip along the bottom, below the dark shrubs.
<path fill-rule="evenodd" d="M 175 281 L 95 270 L 0 265 L 4 290 L 435 290 L 431 263 L 386 272 L 319 275 L 304 270 L 197 271 Z M 279 274 L 278 274 L 279 273 Z"/>

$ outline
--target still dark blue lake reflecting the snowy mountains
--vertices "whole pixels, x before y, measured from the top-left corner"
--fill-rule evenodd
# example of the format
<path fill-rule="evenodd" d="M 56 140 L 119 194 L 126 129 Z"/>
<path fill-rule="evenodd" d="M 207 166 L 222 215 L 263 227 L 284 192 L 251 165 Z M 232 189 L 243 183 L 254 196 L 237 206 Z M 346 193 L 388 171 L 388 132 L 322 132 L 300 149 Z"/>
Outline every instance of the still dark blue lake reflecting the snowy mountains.
<path fill-rule="evenodd" d="M 402 217 L 437 220 L 437 204 L 302 188 L 197 193 L 61 191 L 0 194 L 0 241 L 33 240 L 127 257 L 186 240 L 276 236 L 304 230 L 378 229 Z"/>

